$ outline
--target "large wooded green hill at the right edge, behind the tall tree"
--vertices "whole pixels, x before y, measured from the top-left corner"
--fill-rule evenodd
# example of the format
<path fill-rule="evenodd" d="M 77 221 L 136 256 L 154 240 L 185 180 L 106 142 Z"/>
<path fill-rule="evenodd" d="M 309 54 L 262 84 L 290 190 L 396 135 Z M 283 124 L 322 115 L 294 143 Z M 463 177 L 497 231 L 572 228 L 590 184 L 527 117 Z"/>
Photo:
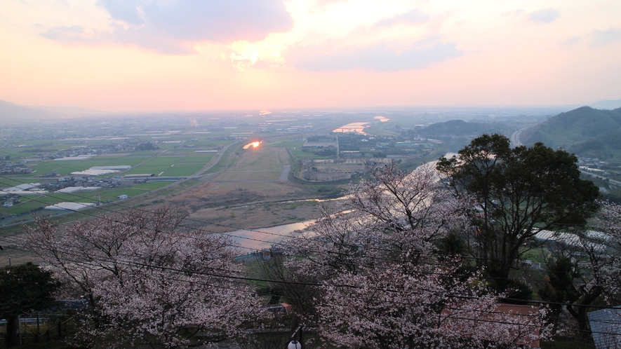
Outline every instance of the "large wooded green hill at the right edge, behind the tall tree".
<path fill-rule="evenodd" d="M 543 142 L 578 156 L 621 161 L 621 108 L 580 107 L 552 116 L 520 134 L 523 144 Z"/>

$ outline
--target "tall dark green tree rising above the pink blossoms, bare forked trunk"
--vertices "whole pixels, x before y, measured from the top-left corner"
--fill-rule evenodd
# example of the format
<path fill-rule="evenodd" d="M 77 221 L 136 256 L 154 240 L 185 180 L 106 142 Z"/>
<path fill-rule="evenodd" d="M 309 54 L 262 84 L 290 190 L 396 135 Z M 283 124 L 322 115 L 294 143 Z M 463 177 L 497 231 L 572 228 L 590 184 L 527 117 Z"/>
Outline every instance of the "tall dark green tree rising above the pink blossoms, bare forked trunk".
<path fill-rule="evenodd" d="M 577 159 L 566 151 L 542 143 L 511 149 L 507 137 L 483 135 L 458 154 L 440 158 L 437 169 L 456 195 L 474 201 L 476 228 L 463 239 L 499 292 L 539 228 L 585 224 L 598 208 L 599 189 L 580 179 Z"/>

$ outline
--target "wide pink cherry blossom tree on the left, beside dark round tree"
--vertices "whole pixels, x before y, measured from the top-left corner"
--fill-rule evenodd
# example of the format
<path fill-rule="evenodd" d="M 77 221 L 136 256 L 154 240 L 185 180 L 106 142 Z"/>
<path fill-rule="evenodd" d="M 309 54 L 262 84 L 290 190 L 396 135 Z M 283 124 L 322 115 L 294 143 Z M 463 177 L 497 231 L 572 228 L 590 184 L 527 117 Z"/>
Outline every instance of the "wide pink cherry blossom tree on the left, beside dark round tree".
<path fill-rule="evenodd" d="M 114 334 L 126 343 L 189 343 L 183 327 L 226 334 L 251 317 L 257 301 L 234 263 L 234 243 L 222 235 L 183 229 L 183 217 L 161 209 L 131 210 L 58 228 L 37 218 L 25 247 L 56 277 L 84 296 L 91 341 Z"/>

